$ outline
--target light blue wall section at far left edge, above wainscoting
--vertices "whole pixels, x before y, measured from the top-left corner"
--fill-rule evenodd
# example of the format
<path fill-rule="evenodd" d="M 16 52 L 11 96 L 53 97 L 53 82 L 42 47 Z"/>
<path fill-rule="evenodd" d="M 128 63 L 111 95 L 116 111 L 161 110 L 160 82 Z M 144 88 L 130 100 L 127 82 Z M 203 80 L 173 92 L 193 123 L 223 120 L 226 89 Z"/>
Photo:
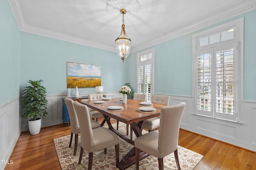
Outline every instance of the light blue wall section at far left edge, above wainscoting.
<path fill-rule="evenodd" d="M 8 0 L 0 1 L 0 106 L 20 96 L 20 29 Z"/>

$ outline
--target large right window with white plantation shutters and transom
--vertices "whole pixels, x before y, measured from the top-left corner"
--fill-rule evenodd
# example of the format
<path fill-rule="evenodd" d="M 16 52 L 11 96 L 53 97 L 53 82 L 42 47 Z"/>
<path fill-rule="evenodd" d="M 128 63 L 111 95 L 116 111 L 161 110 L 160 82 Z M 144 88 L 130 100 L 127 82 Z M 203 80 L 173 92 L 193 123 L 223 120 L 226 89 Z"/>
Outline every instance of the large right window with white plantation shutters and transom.
<path fill-rule="evenodd" d="M 193 35 L 195 114 L 242 121 L 242 28 L 240 19 Z"/>

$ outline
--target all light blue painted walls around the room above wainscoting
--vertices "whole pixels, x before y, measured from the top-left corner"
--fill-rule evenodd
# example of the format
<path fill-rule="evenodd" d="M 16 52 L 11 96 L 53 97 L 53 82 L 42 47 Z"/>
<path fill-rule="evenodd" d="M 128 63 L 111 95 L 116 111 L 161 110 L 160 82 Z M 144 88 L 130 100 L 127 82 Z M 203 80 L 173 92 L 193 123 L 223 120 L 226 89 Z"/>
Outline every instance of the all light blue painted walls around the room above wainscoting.
<path fill-rule="evenodd" d="M 244 100 L 256 101 L 256 10 L 227 21 L 241 17 L 244 17 Z M 0 19 L 0 106 L 18 98 L 30 79 L 44 80 L 47 95 L 66 94 L 67 61 L 102 66 L 104 92 L 117 92 L 125 82 L 130 82 L 136 91 L 136 53 L 123 63 L 115 52 L 20 32 L 8 1 L 0 2 Z M 153 46 L 155 93 L 192 96 L 193 33 Z M 92 93 L 94 89 L 79 91 Z"/>

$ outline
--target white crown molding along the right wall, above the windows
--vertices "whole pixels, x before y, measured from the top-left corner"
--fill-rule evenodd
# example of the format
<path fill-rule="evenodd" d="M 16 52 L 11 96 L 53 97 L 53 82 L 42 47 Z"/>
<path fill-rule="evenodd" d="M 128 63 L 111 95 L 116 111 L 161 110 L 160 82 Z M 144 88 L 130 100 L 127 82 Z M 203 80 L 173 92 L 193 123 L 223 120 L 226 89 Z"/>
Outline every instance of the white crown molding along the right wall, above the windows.
<path fill-rule="evenodd" d="M 230 18 L 233 18 L 235 16 L 244 14 L 246 12 L 250 12 L 250 11 L 255 10 L 255 9 L 256 9 L 256 2 L 254 2 L 253 4 L 251 2 L 250 3 L 244 3 L 242 6 L 237 6 L 235 8 L 232 8 L 232 9 L 226 11 L 225 13 L 221 13 L 221 14 L 212 16 L 211 18 L 207 18 L 206 20 L 201 20 L 200 22 L 194 23 L 193 25 L 190 25 L 190 26 L 185 27 L 183 29 L 179 29 L 178 31 L 174 31 L 170 34 L 159 37 L 158 39 L 148 41 L 147 43 L 144 43 L 143 45 L 132 48 L 131 53 L 141 51 L 141 50 L 146 49 L 148 47 L 152 47 L 153 45 L 163 43 L 165 41 L 180 37 L 182 35 L 186 35 L 188 33 L 197 31 L 199 29 L 202 29 L 204 27 L 208 27 L 210 25 L 219 23 L 221 21 L 228 20 Z"/>

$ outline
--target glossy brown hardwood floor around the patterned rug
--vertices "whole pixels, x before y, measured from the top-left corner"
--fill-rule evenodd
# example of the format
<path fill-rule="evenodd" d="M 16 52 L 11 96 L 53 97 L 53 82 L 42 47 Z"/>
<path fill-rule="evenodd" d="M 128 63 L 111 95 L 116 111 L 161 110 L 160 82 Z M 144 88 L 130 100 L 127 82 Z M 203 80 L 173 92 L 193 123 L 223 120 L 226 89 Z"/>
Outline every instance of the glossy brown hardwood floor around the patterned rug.
<path fill-rule="evenodd" d="M 61 170 L 53 139 L 65 135 L 70 135 L 67 123 L 42 128 L 38 135 L 22 132 L 5 170 Z M 204 155 L 194 170 L 256 170 L 256 152 L 183 129 L 179 145 Z"/>

